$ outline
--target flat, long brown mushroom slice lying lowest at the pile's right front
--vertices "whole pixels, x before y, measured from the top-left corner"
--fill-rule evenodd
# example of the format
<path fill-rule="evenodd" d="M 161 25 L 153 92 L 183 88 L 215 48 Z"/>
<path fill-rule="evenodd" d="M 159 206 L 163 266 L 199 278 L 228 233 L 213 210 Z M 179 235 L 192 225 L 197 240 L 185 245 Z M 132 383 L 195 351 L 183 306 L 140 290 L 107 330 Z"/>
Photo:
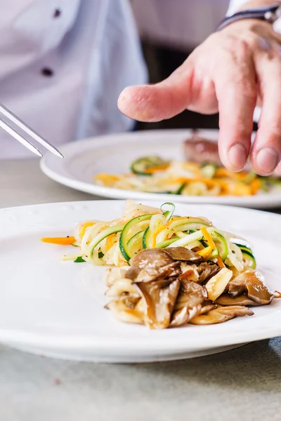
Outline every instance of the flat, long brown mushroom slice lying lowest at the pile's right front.
<path fill-rule="evenodd" d="M 199 316 L 193 317 L 190 323 L 196 325 L 209 325 L 216 323 L 223 323 L 230 319 L 234 319 L 237 316 L 252 316 L 252 312 L 247 307 L 233 305 L 231 307 L 219 307 L 218 309 L 211 310 L 207 314 L 200 314 Z"/>

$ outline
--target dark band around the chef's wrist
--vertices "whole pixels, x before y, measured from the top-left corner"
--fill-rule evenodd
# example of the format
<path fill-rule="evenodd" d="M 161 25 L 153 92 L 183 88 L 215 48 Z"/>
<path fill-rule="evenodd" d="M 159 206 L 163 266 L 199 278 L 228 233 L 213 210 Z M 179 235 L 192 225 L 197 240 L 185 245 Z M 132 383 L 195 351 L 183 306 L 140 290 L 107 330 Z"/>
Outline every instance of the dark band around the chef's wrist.
<path fill-rule="evenodd" d="M 274 5 L 264 8 L 248 9 L 245 11 L 240 11 L 235 13 L 232 16 L 226 16 L 221 23 L 216 28 L 216 31 L 227 27 L 233 22 L 242 19 L 259 19 L 266 20 L 266 22 L 274 23 L 281 16 L 281 5 Z"/>

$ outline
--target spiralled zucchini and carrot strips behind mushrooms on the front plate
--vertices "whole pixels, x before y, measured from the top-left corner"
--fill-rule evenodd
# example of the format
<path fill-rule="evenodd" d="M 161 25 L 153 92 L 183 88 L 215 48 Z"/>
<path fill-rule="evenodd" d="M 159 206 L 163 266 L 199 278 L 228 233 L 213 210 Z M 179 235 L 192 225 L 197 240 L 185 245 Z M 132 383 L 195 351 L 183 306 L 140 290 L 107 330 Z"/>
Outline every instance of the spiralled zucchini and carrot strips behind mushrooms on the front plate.
<path fill-rule="evenodd" d="M 128 266 L 145 248 L 185 247 L 220 267 L 256 267 L 249 246 L 230 240 L 230 234 L 215 228 L 206 218 L 174 215 L 174 203 L 151 208 L 127 201 L 124 215 L 110 222 L 81 222 L 74 236 L 44 238 L 48 243 L 76 246 L 73 260 L 83 258 L 96 265 Z M 70 260 L 68 255 L 63 260 Z"/>

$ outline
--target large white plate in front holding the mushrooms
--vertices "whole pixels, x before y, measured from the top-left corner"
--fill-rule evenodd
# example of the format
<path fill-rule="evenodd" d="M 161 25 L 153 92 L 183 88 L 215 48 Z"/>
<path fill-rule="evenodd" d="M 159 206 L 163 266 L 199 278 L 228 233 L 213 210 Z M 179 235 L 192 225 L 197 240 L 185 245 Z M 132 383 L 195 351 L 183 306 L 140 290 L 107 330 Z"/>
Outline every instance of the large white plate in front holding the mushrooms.
<path fill-rule="evenodd" d="M 281 300 L 214 326 L 157 331 L 117 321 L 103 308 L 105 268 L 61 262 L 70 248 L 40 238 L 72 234 L 82 220 L 111 220 L 123 208 L 122 201 L 87 201 L 0 210 L 0 342 L 63 359 L 136 362 L 190 358 L 281 335 Z M 281 288 L 281 215 L 182 203 L 176 213 L 204 215 L 249 239 L 266 283 Z"/>

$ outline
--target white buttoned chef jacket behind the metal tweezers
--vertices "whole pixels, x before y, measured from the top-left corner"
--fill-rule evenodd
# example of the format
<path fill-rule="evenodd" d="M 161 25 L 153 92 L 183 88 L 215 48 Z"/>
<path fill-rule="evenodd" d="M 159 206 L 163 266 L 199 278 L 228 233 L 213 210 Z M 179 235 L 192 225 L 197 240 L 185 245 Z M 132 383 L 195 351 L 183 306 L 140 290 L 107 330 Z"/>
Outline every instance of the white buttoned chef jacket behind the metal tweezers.
<path fill-rule="evenodd" d="M 0 0 L 0 102 L 53 145 L 126 131 L 147 81 L 129 0 Z M 0 159 L 33 156 L 0 129 Z"/>

